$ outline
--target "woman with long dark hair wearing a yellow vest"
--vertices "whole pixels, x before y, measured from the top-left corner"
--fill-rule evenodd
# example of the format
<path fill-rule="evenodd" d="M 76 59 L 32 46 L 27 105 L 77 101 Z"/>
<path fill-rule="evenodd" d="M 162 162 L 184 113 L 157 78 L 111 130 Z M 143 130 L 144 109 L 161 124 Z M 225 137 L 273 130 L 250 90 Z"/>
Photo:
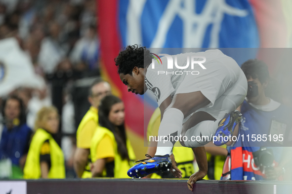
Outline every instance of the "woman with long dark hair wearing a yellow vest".
<path fill-rule="evenodd" d="M 101 100 L 99 125 L 91 140 L 92 177 L 128 178 L 127 170 L 135 160 L 125 133 L 125 107 L 115 96 Z"/>

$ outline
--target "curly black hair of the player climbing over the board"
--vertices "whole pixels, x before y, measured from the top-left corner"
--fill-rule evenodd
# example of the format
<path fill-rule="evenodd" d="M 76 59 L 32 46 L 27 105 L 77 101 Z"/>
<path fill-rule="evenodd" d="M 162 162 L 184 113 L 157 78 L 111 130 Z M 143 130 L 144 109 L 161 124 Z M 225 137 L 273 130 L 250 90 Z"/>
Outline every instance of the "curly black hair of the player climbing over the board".
<path fill-rule="evenodd" d="M 115 58 L 118 73 L 132 75 L 133 68 L 146 68 L 151 64 L 152 56 L 146 47 L 129 45 L 124 50 L 120 51 L 118 57 Z M 145 63 L 144 63 L 145 62 Z"/>

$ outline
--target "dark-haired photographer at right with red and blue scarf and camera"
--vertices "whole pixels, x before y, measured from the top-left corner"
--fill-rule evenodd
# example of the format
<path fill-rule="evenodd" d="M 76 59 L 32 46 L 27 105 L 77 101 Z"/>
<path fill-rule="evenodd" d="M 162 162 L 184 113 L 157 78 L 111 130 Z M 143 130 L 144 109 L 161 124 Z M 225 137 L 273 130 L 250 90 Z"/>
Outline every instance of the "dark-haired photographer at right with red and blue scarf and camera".
<path fill-rule="evenodd" d="M 265 89 L 269 81 L 267 65 L 254 59 L 245 62 L 241 68 L 248 80 L 248 94 L 246 100 L 238 108 L 243 116 L 234 135 L 241 138 L 248 135 L 251 137 L 252 135 L 275 134 L 275 129 L 280 126 L 281 134 L 283 133 L 285 137 L 291 129 L 291 118 L 289 118 L 291 111 L 279 102 L 266 97 Z M 251 139 L 248 141 L 245 138 L 232 143 L 227 148 L 228 156 L 221 179 L 287 180 L 290 148 L 277 147 L 281 145 L 268 142 L 259 140 L 252 142 Z M 254 145 L 261 147 L 252 147 Z M 273 145 L 273 147 L 264 147 L 266 145 Z"/>

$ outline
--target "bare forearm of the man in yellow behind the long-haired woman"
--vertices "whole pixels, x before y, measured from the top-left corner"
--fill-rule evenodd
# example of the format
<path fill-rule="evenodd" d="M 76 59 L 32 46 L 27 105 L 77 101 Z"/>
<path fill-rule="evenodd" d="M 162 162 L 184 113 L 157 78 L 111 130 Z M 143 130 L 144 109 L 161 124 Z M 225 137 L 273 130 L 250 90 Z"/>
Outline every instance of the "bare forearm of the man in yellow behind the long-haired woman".
<path fill-rule="evenodd" d="M 79 178 L 82 177 L 87 164 L 89 149 L 76 148 L 74 155 L 74 170 Z"/>

